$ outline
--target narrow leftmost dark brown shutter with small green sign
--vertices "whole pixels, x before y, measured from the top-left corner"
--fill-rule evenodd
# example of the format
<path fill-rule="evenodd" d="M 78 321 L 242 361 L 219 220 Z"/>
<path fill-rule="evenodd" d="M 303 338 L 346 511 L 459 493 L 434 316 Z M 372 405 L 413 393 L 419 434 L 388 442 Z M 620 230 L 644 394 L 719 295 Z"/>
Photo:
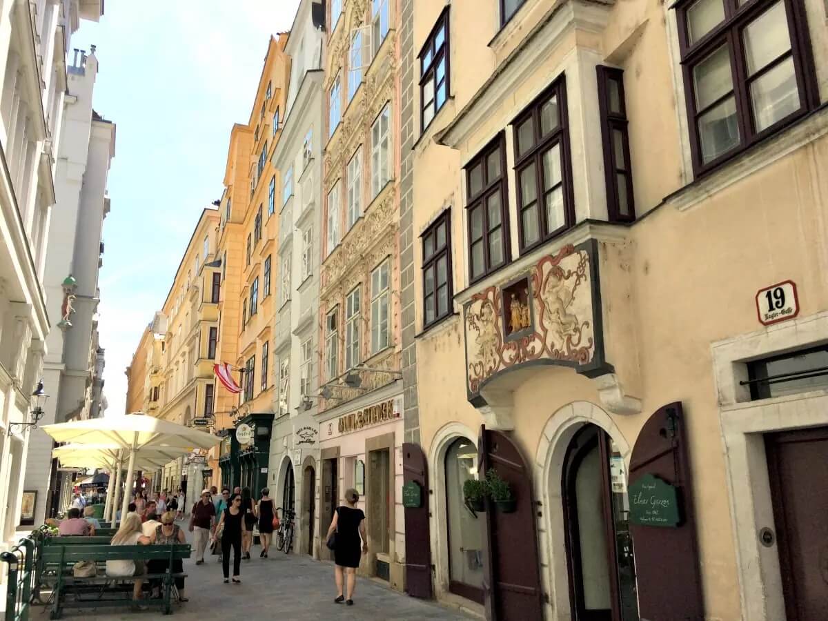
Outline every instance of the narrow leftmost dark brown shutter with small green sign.
<path fill-rule="evenodd" d="M 431 537 L 428 516 L 428 469 L 420 445 L 402 445 L 402 481 L 422 490 L 421 505 L 406 507 L 406 590 L 412 597 L 431 598 Z"/>

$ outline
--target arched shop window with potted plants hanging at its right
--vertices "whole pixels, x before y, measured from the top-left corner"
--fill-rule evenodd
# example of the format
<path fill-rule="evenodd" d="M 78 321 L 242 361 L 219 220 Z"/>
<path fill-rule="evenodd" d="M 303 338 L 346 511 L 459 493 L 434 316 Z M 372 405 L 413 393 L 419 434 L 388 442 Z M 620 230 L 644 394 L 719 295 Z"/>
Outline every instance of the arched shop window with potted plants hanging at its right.
<path fill-rule="evenodd" d="M 483 541 L 480 520 L 463 499 L 463 484 L 477 474 L 477 448 L 458 438 L 445 453 L 445 505 L 448 513 L 450 590 L 478 599 L 483 587 Z M 480 594 L 482 595 L 482 594 Z"/>

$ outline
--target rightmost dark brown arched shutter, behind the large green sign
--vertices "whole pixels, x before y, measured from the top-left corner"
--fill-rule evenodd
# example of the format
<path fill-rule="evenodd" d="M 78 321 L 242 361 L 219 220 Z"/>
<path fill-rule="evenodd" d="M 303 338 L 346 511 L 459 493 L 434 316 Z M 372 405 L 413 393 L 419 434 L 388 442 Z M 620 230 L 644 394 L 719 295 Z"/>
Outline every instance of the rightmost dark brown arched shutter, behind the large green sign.
<path fill-rule="evenodd" d="M 681 403 L 671 403 L 644 423 L 629 465 L 629 484 L 652 474 L 676 487 L 683 517 L 677 527 L 630 525 L 642 619 L 705 619 L 691 472 Z"/>

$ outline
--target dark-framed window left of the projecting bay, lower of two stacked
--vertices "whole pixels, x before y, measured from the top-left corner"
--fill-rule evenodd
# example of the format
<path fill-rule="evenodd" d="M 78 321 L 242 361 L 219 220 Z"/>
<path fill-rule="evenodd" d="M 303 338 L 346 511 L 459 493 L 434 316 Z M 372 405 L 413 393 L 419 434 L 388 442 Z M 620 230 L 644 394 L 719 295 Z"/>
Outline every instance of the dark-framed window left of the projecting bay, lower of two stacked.
<path fill-rule="evenodd" d="M 451 219 L 446 209 L 422 234 L 423 326 L 451 314 Z"/>

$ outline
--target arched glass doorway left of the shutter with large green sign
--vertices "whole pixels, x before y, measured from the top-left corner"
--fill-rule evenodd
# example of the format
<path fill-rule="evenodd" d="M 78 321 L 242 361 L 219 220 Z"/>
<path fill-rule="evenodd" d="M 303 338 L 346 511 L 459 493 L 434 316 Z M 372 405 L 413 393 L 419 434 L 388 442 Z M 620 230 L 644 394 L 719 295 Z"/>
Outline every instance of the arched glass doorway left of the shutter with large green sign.
<path fill-rule="evenodd" d="M 638 621 L 627 469 L 614 440 L 586 424 L 561 481 L 572 621 Z"/>

